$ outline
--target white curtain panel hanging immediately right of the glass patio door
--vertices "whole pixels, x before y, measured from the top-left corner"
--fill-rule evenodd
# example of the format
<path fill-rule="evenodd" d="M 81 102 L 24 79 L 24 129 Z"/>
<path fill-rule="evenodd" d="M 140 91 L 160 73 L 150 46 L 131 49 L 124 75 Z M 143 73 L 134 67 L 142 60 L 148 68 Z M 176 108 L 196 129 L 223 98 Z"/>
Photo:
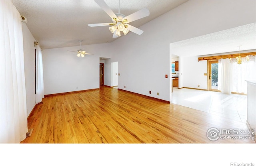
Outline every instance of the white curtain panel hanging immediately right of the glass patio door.
<path fill-rule="evenodd" d="M 218 90 L 225 94 L 232 92 L 232 67 L 228 58 L 219 59 Z"/>

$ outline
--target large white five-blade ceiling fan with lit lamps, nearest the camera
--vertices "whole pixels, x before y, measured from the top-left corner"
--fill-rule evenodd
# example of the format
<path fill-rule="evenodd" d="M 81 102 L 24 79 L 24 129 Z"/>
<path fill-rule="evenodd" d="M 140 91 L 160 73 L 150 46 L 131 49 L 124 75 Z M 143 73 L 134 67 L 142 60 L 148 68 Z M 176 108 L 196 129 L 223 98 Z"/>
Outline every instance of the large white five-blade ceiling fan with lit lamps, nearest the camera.
<path fill-rule="evenodd" d="M 118 38 L 121 36 L 121 31 L 126 35 L 129 31 L 134 32 L 135 34 L 141 35 L 143 33 L 142 30 L 129 25 L 128 23 L 133 22 L 135 20 L 139 20 L 146 16 L 149 16 L 149 10 L 143 8 L 129 16 L 124 16 L 124 14 L 120 13 L 120 0 L 119 0 L 119 8 L 118 13 L 114 14 L 114 12 L 108 7 L 104 0 L 94 0 L 112 19 L 110 23 L 99 23 L 99 24 L 88 24 L 90 27 L 96 26 L 111 26 L 109 27 L 110 32 L 113 34 L 113 38 Z"/>

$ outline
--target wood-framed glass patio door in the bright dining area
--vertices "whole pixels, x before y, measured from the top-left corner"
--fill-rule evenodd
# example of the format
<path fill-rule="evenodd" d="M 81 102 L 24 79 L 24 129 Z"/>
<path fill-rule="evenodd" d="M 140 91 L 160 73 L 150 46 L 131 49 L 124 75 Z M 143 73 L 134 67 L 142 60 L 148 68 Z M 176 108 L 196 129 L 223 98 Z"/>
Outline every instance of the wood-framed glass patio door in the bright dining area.
<path fill-rule="evenodd" d="M 216 91 L 218 90 L 218 60 L 209 60 L 208 61 L 208 89 L 209 91 Z"/>

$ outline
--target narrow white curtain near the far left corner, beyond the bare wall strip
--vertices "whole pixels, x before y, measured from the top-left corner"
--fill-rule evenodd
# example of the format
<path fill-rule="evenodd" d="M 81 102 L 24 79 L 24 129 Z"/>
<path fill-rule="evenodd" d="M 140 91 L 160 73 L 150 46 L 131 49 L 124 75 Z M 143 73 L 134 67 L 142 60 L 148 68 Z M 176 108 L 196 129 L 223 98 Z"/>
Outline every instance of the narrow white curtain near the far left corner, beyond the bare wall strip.
<path fill-rule="evenodd" d="M 36 46 L 36 103 L 44 98 L 44 76 L 42 51 L 39 45 Z"/>

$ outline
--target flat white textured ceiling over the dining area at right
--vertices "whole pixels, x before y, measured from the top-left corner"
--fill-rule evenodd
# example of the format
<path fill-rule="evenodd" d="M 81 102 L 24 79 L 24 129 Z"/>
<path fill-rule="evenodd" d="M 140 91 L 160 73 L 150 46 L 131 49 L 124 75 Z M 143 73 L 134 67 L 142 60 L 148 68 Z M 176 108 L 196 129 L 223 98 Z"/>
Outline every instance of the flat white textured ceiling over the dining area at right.
<path fill-rule="evenodd" d="M 197 56 L 256 49 L 256 23 L 178 41 L 170 52 L 178 56 Z"/>

